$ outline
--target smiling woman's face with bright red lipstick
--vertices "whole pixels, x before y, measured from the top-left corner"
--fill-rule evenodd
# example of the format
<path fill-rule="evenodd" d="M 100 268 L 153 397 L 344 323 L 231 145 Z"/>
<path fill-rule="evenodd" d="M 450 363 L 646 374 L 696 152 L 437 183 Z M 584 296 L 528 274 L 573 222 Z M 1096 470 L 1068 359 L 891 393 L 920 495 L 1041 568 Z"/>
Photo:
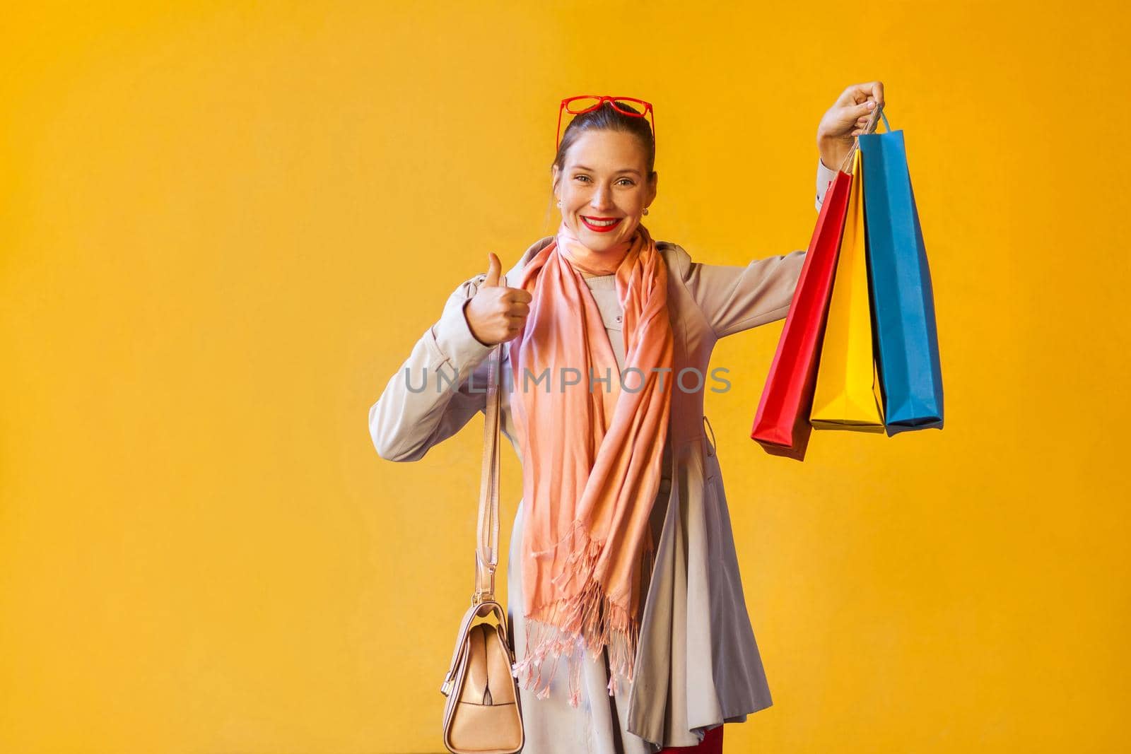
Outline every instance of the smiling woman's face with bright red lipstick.
<path fill-rule="evenodd" d="M 587 131 L 555 165 L 554 194 L 562 220 L 593 251 L 606 251 L 636 233 L 645 207 L 656 198 L 640 141 L 624 131 Z M 612 220 L 612 223 L 610 223 Z"/>

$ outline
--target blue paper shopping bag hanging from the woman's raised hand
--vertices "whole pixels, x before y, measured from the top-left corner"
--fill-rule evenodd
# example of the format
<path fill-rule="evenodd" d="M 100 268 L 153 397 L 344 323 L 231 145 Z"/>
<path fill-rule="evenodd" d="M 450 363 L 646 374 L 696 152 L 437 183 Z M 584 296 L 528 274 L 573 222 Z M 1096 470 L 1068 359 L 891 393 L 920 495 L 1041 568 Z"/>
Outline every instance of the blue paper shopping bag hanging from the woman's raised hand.
<path fill-rule="evenodd" d="M 904 132 L 860 135 L 877 371 L 888 435 L 942 428 L 934 294 Z"/>

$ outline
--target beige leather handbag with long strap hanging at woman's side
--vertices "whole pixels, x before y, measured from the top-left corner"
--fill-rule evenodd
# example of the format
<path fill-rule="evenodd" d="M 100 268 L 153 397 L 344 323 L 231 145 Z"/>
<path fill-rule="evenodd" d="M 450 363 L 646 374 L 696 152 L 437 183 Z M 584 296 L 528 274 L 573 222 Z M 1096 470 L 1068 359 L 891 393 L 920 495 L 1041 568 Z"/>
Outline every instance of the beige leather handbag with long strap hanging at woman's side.
<path fill-rule="evenodd" d="M 507 639 L 507 612 L 494 598 L 499 562 L 499 372 L 502 345 L 490 356 L 487 404 L 483 423 L 483 478 L 475 551 L 475 593 L 464 614 L 451 655 L 451 668 L 440 693 L 443 745 L 452 754 L 515 754 L 523 749 L 523 708 L 518 681 L 511 675 L 515 652 Z M 494 614 L 498 625 L 478 623 Z"/>

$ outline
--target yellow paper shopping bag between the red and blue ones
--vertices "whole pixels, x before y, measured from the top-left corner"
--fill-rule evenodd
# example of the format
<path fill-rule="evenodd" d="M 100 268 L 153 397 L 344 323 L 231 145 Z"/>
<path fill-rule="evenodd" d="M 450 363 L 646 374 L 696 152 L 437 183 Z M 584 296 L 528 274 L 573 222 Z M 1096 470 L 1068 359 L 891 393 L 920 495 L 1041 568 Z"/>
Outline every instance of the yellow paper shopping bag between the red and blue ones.
<path fill-rule="evenodd" d="M 848 216 L 840 236 L 840 255 L 809 415 L 810 424 L 818 430 L 883 432 L 883 399 L 872 354 L 861 159 L 861 150 L 856 149 Z"/>

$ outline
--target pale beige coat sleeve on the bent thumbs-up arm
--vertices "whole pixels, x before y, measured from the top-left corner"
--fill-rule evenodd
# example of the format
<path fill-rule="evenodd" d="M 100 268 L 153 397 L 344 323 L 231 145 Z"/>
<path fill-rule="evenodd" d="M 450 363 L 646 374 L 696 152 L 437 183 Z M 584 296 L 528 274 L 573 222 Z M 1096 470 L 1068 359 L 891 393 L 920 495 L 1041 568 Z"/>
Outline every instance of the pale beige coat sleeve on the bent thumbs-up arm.
<path fill-rule="evenodd" d="M 456 288 L 439 321 L 416 341 L 369 409 L 369 433 L 381 458 L 420 460 L 485 410 L 493 346 L 472 335 L 464 315 L 464 305 L 485 277 L 477 275 Z"/>

